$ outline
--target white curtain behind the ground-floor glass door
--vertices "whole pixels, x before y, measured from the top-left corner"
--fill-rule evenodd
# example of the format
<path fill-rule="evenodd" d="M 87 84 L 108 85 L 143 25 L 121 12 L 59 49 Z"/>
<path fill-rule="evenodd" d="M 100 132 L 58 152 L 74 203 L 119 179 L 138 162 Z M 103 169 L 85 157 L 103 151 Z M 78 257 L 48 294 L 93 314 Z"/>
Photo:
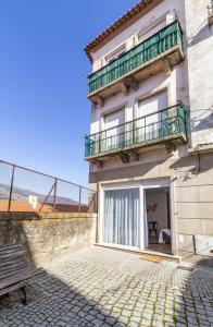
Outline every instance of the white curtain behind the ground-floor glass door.
<path fill-rule="evenodd" d="M 139 247 L 139 189 L 104 191 L 102 239 Z"/>

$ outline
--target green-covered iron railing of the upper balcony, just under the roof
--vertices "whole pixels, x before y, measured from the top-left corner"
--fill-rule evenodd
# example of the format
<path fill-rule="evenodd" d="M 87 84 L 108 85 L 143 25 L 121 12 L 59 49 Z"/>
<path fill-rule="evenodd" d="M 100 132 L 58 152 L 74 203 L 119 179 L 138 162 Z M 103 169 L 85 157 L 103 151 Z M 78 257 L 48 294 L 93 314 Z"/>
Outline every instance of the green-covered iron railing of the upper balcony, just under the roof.
<path fill-rule="evenodd" d="M 183 32 L 178 21 L 162 28 L 104 68 L 90 74 L 88 93 L 96 92 L 175 46 L 183 48 Z"/>

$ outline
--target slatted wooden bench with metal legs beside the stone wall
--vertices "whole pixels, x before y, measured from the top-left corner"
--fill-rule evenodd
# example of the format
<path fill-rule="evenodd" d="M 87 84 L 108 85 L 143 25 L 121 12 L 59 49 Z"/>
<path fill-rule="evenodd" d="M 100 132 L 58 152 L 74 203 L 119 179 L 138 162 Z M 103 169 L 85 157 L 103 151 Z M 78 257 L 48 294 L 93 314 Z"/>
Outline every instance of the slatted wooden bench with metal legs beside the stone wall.
<path fill-rule="evenodd" d="M 0 296 L 20 288 L 23 292 L 22 303 L 26 305 L 25 284 L 43 274 L 42 268 L 32 267 L 24 245 L 0 245 Z"/>

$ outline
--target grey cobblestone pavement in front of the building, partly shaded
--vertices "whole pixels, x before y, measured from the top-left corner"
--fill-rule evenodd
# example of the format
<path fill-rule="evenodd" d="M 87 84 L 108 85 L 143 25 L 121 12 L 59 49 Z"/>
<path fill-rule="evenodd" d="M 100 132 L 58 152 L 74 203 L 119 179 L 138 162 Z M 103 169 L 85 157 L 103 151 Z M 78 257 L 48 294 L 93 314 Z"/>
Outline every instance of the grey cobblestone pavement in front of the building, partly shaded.
<path fill-rule="evenodd" d="M 27 290 L 27 306 L 1 299 L 0 326 L 213 326 L 211 268 L 91 247 L 53 263 Z"/>

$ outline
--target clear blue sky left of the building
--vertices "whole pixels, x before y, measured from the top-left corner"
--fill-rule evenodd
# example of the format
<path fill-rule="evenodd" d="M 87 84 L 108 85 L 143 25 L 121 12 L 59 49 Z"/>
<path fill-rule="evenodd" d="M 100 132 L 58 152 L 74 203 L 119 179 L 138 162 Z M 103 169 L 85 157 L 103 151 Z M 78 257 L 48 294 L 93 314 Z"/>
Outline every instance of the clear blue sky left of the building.
<path fill-rule="evenodd" d="M 0 159 L 87 184 L 83 48 L 136 2 L 0 1 Z"/>

